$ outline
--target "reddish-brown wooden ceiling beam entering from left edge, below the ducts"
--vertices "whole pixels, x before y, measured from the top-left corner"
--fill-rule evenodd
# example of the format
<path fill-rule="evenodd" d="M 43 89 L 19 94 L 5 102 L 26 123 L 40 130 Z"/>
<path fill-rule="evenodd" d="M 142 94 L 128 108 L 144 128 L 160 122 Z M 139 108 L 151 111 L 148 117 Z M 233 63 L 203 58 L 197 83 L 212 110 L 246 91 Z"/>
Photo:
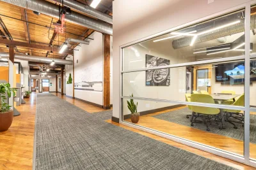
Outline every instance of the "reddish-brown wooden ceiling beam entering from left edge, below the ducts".
<path fill-rule="evenodd" d="M 28 47 L 28 48 L 35 48 L 35 49 L 46 50 L 46 51 L 51 51 L 52 50 L 52 47 L 49 46 L 49 45 L 35 45 L 35 44 L 29 44 L 29 43 L 24 43 L 24 42 L 20 42 L 20 41 L 12 41 L 12 40 L 9 40 L 9 39 L 0 39 L 0 44 L 14 45 L 14 46 L 24 46 L 24 47 Z M 59 48 L 54 47 L 54 52 L 58 53 L 59 50 L 60 50 Z M 73 55 L 73 51 L 66 50 L 65 52 L 63 52 L 63 54 Z"/>

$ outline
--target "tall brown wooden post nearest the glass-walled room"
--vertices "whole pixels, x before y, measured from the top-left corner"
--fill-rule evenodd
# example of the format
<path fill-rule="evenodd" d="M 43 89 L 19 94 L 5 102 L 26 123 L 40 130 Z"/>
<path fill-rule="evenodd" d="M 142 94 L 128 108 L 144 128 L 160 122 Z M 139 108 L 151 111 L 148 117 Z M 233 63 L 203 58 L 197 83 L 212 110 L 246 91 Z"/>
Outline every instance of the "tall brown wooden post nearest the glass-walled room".
<path fill-rule="evenodd" d="M 103 74 L 103 108 L 110 109 L 110 36 L 103 34 L 104 38 L 104 74 Z"/>

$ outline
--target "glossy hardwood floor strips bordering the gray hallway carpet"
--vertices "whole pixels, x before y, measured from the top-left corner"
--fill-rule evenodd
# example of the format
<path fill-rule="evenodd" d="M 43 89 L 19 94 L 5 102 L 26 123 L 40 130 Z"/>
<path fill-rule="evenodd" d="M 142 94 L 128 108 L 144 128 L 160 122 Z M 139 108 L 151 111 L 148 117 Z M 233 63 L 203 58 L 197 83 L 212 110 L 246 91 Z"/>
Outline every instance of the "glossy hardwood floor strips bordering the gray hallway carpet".
<path fill-rule="evenodd" d="M 52 93 L 55 94 L 55 93 Z M 66 96 L 61 96 L 61 94 L 56 94 L 61 99 L 68 101 L 76 105 L 77 107 L 88 111 L 89 113 L 104 111 L 101 108 L 97 108 L 96 106 L 92 106 L 90 104 L 83 103 L 82 101 L 78 101 L 76 99 L 71 99 Z M 26 104 L 22 104 L 21 106 L 17 106 L 17 110 L 20 111 L 20 116 L 13 118 L 13 124 L 8 129 L 8 131 L 0 132 L 0 169 L 22 169 L 26 170 L 32 169 L 33 163 L 33 142 L 34 142 L 34 131 L 35 131 L 35 112 L 36 112 L 36 93 L 33 92 L 31 94 L 30 99 L 25 99 Z M 223 164 L 227 164 L 228 166 L 236 167 L 237 169 L 256 169 L 254 167 L 246 166 L 239 162 L 235 162 L 233 160 L 225 159 L 223 157 L 219 157 L 213 155 L 211 153 L 203 152 L 201 150 L 197 150 L 195 148 L 191 148 L 186 145 L 182 145 L 180 143 L 176 143 L 174 141 L 170 141 L 165 138 L 161 138 L 159 136 L 149 134 L 147 132 L 139 131 L 137 129 L 133 129 L 131 127 L 127 127 L 125 125 L 116 124 L 115 122 L 111 122 L 108 120 L 109 124 L 118 125 L 130 131 L 138 132 L 149 138 L 157 139 L 164 143 L 167 143 L 172 146 L 176 146 L 178 148 L 182 148 L 184 150 L 188 150 L 189 152 L 196 153 L 197 155 L 201 155 L 203 157 L 207 157 L 208 159 L 216 160 Z"/>

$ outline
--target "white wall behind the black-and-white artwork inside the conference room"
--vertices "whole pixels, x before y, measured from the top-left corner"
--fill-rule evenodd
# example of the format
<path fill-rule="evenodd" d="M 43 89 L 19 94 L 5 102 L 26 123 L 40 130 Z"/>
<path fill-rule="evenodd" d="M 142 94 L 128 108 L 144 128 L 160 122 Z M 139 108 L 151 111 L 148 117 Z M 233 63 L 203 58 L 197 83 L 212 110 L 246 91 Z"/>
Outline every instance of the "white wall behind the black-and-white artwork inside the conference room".
<path fill-rule="evenodd" d="M 148 49 L 145 46 L 133 45 L 124 49 L 124 56 L 129 57 L 129 61 L 124 62 L 124 69 L 138 69 L 145 67 L 146 54 L 170 60 L 170 64 L 177 64 L 177 57 L 172 57 L 172 47 Z M 134 61 L 134 62 L 130 62 Z M 170 69 L 170 85 L 168 86 L 146 86 L 146 72 L 125 73 L 124 76 L 124 96 L 146 97 L 151 99 L 167 99 L 185 101 L 186 93 L 186 67 L 176 67 Z M 156 103 L 149 101 L 138 101 L 138 111 L 154 110 L 175 104 Z M 126 99 L 124 100 L 124 115 L 129 114 Z"/>

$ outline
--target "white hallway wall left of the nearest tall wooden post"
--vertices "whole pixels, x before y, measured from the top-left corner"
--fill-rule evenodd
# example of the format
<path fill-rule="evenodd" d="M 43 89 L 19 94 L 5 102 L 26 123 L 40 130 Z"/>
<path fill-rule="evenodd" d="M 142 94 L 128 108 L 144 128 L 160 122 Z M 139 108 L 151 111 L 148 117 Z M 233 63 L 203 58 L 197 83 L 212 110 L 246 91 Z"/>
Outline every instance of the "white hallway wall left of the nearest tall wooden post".
<path fill-rule="evenodd" d="M 103 37 L 94 32 L 90 45 L 77 46 L 74 50 L 75 83 L 81 81 L 103 81 Z M 78 50 L 78 51 L 77 51 Z M 78 60 L 78 63 L 77 63 Z M 90 90 L 76 90 L 75 97 L 103 105 L 103 93 Z"/>

